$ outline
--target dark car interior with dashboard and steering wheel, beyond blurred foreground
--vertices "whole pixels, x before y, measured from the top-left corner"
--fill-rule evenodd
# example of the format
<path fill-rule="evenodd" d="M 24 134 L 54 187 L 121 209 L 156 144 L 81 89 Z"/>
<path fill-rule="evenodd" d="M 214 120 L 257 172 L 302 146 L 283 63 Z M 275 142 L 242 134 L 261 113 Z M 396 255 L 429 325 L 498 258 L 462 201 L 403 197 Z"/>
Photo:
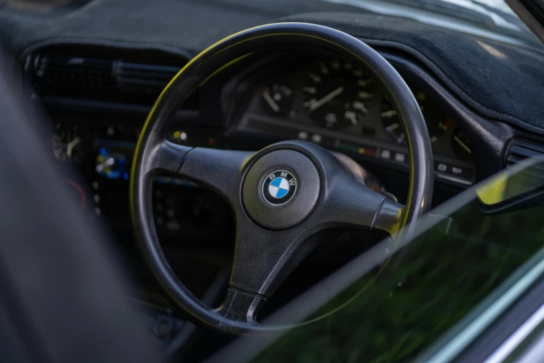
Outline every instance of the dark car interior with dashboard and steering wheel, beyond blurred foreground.
<path fill-rule="evenodd" d="M 11 91 L 160 357 L 212 357 L 544 154 L 540 40 L 506 10 L 422 3 L 0 2 Z"/>

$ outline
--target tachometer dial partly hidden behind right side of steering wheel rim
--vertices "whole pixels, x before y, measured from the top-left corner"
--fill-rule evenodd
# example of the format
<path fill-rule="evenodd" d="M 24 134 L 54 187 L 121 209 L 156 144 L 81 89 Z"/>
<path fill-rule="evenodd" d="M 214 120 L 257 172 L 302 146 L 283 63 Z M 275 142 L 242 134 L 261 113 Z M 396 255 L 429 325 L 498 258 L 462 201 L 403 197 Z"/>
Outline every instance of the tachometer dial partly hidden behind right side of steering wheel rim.
<path fill-rule="evenodd" d="M 447 117 L 442 108 L 429 99 L 425 95 L 425 92 L 418 90 L 414 92 L 414 95 L 415 99 L 418 100 L 425 122 L 427 122 L 431 143 L 434 143 L 450 128 L 452 119 Z M 404 129 L 400 124 L 397 111 L 395 111 L 393 104 L 391 104 L 387 97 L 384 97 L 381 102 L 380 118 L 384 130 L 391 140 L 399 145 L 405 145 L 406 134 L 404 134 Z"/>

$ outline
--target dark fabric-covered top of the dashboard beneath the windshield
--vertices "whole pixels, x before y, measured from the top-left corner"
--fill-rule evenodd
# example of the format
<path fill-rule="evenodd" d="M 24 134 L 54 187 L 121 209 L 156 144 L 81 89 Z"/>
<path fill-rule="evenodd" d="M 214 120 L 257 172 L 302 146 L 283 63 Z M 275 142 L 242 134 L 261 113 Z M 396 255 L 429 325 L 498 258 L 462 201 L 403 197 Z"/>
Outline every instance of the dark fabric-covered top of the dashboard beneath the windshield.
<path fill-rule="evenodd" d="M 16 55 L 44 42 L 70 42 L 192 56 L 226 35 L 279 18 L 331 26 L 372 46 L 402 51 L 481 115 L 544 134 L 544 109 L 531 106 L 544 92 L 540 50 L 352 6 L 315 0 L 95 0 L 59 17 L 2 10 L 0 33 Z"/>

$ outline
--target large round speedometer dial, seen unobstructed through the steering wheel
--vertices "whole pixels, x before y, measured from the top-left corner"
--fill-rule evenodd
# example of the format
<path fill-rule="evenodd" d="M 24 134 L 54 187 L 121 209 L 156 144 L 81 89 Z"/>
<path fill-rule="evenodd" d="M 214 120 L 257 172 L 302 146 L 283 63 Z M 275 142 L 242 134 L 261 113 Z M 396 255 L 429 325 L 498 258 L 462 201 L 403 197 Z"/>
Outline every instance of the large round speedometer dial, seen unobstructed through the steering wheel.
<path fill-rule="evenodd" d="M 358 125 L 368 113 L 372 79 L 347 61 L 322 61 L 308 72 L 304 109 L 312 120 L 327 129 Z"/>

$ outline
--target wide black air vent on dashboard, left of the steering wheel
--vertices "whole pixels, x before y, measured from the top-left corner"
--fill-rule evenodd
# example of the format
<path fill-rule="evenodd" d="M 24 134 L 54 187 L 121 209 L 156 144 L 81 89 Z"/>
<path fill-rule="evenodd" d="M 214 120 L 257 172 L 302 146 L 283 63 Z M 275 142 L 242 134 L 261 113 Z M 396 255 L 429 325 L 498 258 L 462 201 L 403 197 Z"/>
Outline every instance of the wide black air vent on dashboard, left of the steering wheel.
<path fill-rule="evenodd" d="M 25 70 L 35 92 L 49 99 L 152 106 L 185 64 L 185 60 L 172 56 L 113 58 L 104 51 L 59 49 L 29 56 Z M 197 92 L 181 108 L 196 110 L 196 95 Z"/>

